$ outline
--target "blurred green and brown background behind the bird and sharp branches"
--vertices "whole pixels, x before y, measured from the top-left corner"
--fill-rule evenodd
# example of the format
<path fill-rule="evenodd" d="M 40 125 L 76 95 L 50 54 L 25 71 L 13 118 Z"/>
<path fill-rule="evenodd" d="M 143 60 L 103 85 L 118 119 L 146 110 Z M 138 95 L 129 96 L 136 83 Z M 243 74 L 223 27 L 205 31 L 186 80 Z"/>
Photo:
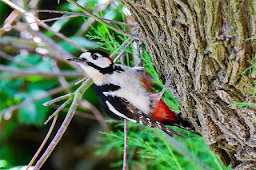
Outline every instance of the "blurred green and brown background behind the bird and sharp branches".
<path fill-rule="evenodd" d="M 61 10 L 82 13 L 66 1 L 12 2 L 26 11 Z M 118 2 L 77 2 L 92 14 L 134 25 L 129 11 Z M 32 13 L 41 20 L 67 16 L 38 11 Z M 0 2 L 1 28 L 26 22 L 24 14 Z M 74 85 L 74 82 L 85 77 L 81 69 L 66 61 L 66 58 L 78 57 L 82 53 L 81 50 L 59 38 L 54 32 L 65 35 L 85 49 L 101 49 L 109 54 L 122 47 L 122 43 L 127 39 L 92 18 L 65 18 L 46 24 L 52 31 L 42 26 L 39 26 L 39 30 L 33 26 L 0 30 L 0 168 L 3 169 L 18 169 L 30 162 L 50 128 L 50 123 L 43 123 L 63 101 L 47 107 L 42 103 L 74 92 L 79 87 Z M 134 32 L 126 26 L 114 26 Z M 124 51 L 126 53 L 118 62 L 134 65 L 137 61 L 136 45 L 131 44 Z M 162 82 L 158 79 L 146 51 L 142 53 L 142 59 L 152 89 L 158 92 L 162 89 Z M 165 93 L 164 100 L 171 109 L 178 110 L 178 102 L 169 92 Z M 58 131 L 69 106 L 62 109 L 46 145 L 50 144 L 50 140 Z M 95 115 L 101 115 L 106 121 L 98 121 Z M 102 113 L 94 89 L 90 87 L 65 135 L 42 169 L 121 169 L 122 128 L 122 122 L 110 121 Z M 222 166 L 218 157 L 208 150 L 202 137 L 182 129 L 175 130 L 187 139 L 174 137 L 169 140 L 156 129 L 129 122 L 128 169 L 230 169 Z"/>

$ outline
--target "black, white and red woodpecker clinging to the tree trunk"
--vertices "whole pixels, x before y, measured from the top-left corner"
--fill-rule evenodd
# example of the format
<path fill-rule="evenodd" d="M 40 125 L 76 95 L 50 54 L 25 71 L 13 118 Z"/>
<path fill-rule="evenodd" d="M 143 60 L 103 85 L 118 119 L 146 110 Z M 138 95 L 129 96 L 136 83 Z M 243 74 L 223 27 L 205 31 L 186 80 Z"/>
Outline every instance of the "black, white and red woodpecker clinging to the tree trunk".
<path fill-rule="evenodd" d="M 162 101 L 161 94 L 151 91 L 137 69 L 114 65 L 113 60 L 99 50 L 89 50 L 68 60 L 80 65 L 93 79 L 102 109 L 110 117 L 159 128 L 170 136 L 181 135 L 165 125 L 188 126 L 180 114 L 174 113 Z"/>

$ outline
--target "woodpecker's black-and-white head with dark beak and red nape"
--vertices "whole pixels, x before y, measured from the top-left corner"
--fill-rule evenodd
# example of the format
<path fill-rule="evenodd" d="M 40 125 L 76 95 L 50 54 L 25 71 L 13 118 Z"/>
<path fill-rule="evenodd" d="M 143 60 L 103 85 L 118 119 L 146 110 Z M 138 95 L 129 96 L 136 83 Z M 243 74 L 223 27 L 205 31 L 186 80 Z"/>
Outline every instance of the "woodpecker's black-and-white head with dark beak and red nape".
<path fill-rule="evenodd" d="M 113 60 L 105 52 L 100 50 L 89 50 L 86 53 L 82 53 L 78 58 L 70 58 L 67 60 L 75 62 L 78 65 L 94 67 L 94 69 L 104 69 L 113 65 Z"/>

